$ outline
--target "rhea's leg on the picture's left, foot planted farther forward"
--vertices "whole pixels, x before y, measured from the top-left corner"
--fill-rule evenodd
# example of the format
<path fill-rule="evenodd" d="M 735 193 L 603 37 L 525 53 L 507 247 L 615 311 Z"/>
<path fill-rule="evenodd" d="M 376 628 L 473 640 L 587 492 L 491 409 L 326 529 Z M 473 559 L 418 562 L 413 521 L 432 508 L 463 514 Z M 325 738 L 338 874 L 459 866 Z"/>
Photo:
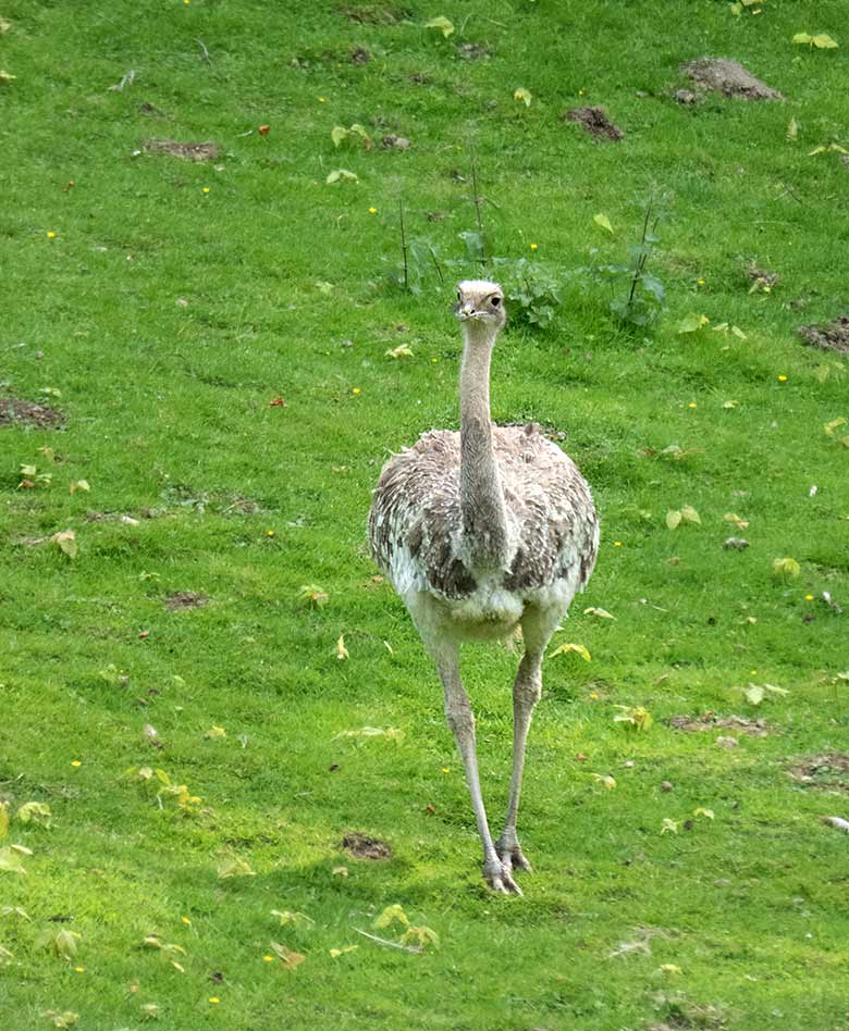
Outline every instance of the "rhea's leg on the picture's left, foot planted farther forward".
<path fill-rule="evenodd" d="M 478 823 L 478 834 L 483 844 L 483 878 L 493 891 L 503 892 L 505 895 L 510 892 L 521 895 L 519 886 L 510 877 L 509 867 L 506 867 L 499 858 L 487 822 L 475 748 L 475 715 L 471 711 L 469 696 L 460 681 L 459 647 L 455 642 L 441 642 L 429 650 L 435 659 L 436 669 L 445 688 L 445 717 L 466 768 L 466 783 L 471 796 L 471 807 Z"/>

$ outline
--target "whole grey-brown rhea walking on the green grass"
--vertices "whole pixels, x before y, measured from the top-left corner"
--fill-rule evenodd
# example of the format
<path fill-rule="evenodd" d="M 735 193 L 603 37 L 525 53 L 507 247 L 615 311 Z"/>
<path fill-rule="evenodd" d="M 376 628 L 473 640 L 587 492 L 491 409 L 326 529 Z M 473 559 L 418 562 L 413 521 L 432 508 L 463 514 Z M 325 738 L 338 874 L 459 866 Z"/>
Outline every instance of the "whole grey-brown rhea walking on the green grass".
<path fill-rule="evenodd" d="M 543 654 L 590 577 L 599 520 L 575 463 L 536 424 L 492 423 L 490 363 L 506 320 L 501 287 L 460 283 L 455 312 L 463 328 L 459 433 L 424 433 L 384 465 L 369 543 L 442 680 L 483 844 L 483 878 L 496 892 L 520 895 L 514 873 L 530 864 L 516 823 Z M 525 653 L 513 685 L 513 775 L 504 830 L 493 841 L 459 650 L 465 641 L 504 638 L 517 628 Z"/>

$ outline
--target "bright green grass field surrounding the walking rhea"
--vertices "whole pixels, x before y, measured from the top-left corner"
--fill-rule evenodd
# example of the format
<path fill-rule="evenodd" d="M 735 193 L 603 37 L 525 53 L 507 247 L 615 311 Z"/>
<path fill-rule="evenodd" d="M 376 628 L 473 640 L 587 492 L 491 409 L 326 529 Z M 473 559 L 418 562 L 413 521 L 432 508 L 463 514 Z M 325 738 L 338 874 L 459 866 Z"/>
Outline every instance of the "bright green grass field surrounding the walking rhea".
<path fill-rule="evenodd" d="M 848 300 L 849 170 L 808 157 L 849 146 L 844 3 L 347 10 L 359 20 L 344 4 L 223 0 L 0 10 L 0 67 L 16 76 L 0 86 L 0 395 L 65 417 L 0 427 L 0 798 L 13 813 L 47 803 L 53 822 L 13 819 L 2 843 L 33 855 L 25 875 L 0 871 L 0 903 L 29 918 L 0 915 L 0 1027 L 49 1027 L 52 1009 L 86 1031 L 140 1028 L 157 1004 L 158 1026 L 192 1031 L 847 1028 L 846 839 L 821 822 L 849 816 L 846 784 L 787 772 L 848 750 L 849 451 L 823 432 L 849 418 L 846 361 L 795 332 Z M 448 39 L 422 27 L 438 14 L 457 26 Z M 793 46 L 802 30 L 841 48 Z M 458 41 L 490 59 L 463 60 Z M 354 47 L 372 60 L 353 64 Z M 678 65 L 702 54 L 739 59 L 787 101 L 676 104 Z M 585 102 L 607 107 L 623 142 L 559 121 Z M 332 127 L 355 122 L 413 146 L 334 151 Z M 134 157 L 151 137 L 223 152 L 214 166 Z M 470 142 L 497 257 L 534 243 L 550 269 L 622 262 L 635 198 L 656 184 L 669 212 L 650 262 L 669 305 L 655 328 L 623 328 L 605 288 L 576 274 L 553 328 L 515 322 L 496 352 L 495 418 L 565 431 L 603 523 L 555 638 L 592 661 L 547 663 L 531 732 L 522 899 L 482 886 L 435 674 L 364 539 L 385 456 L 457 424 L 448 305 L 473 271 L 457 234 L 475 213 L 454 173 L 468 177 Z M 359 182 L 325 185 L 336 167 Z M 399 195 L 409 232 L 458 262 L 444 289 L 385 285 Z M 749 294 L 749 261 L 782 274 L 771 294 Z M 747 338 L 679 335 L 690 312 Z M 398 344 L 414 357 L 386 358 Z M 670 444 L 692 454 L 656 454 Z M 50 485 L 19 488 L 22 463 Z M 70 494 L 82 479 L 90 493 Z M 701 525 L 667 530 L 687 504 Z M 727 512 L 750 521 L 748 550 L 723 549 L 738 533 Z M 67 529 L 73 560 L 49 539 Z M 773 574 L 785 556 L 798 579 Z M 305 584 L 328 604 L 303 605 Z M 209 600 L 172 611 L 175 592 Z M 480 647 L 466 661 L 495 828 L 516 658 Z M 749 682 L 789 693 L 755 708 L 735 691 Z M 629 732 L 616 705 L 654 725 Z M 705 710 L 762 716 L 770 733 L 722 748 L 733 731 L 665 722 Z M 339 736 L 366 725 L 403 736 Z M 145 767 L 202 800 L 160 808 L 127 773 Z M 715 818 L 661 834 L 699 806 Z M 352 830 L 392 858 L 347 856 Z M 256 875 L 219 878 L 233 859 Z M 438 951 L 353 930 L 394 903 Z M 278 927 L 272 909 L 315 926 Z M 612 957 L 640 928 L 651 955 Z M 62 929 L 81 935 L 72 961 L 38 946 Z M 151 934 L 185 955 L 145 946 Z M 264 961 L 271 941 L 306 960 Z"/>

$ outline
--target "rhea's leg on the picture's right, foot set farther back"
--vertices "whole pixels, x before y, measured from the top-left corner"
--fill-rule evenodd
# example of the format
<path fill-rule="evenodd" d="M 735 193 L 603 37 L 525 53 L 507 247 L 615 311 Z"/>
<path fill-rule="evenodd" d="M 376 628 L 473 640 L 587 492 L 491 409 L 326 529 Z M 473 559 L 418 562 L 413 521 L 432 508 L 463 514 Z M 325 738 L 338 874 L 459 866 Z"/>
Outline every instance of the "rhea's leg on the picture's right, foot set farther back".
<path fill-rule="evenodd" d="M 547 612 L 528 608 L 521 619 L 521 632 L 525 638 L 525 655 L 519 662 L 516 681 L 513 685 L 513 775 L 510 795 L 507 803 L 507 816 L 504 832 L 495 843 L 503 866 L 507 870 L 518 867 L 530 870 L 516 833 L 516 820 L 519 812 L 521 794 L 521 774 L 525 768 L 525 747 L 528 741 L 533 707 L 542 694 L 542 657 L 545 647 L 559 621 L 559 612 Z"/>

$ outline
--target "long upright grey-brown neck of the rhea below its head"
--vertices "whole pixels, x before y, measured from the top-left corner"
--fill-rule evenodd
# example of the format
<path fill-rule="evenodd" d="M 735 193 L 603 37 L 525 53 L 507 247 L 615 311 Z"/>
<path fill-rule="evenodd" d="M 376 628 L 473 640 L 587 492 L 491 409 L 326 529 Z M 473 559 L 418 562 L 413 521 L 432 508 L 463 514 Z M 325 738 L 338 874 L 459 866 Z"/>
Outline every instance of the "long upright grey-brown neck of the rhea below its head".
<path fill-rule="evenodd" d="M 492 448 L 490 359 L 497 328 L 464 324 L 460 365 L 460 508 L 463 535 L 472 561 L 504 566 L 508 559 L 507 511 Z"/>

